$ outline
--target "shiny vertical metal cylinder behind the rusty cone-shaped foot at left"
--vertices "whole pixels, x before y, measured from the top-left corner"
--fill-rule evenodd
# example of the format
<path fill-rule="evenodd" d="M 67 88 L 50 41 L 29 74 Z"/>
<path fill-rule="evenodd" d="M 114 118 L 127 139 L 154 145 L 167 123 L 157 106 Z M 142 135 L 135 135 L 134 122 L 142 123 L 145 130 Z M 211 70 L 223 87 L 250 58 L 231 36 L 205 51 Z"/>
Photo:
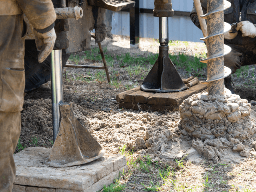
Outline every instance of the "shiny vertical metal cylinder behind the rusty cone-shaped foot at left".
<path fill-rule="evenodd" d="M 63 103 L 62 83 L 62 54 L 61 50 L 53 50 L 51 53 L 51 89 L 53 110 L 53 142 L 55 141 L 60 123 L 61 112 L 59 105 Z"/>

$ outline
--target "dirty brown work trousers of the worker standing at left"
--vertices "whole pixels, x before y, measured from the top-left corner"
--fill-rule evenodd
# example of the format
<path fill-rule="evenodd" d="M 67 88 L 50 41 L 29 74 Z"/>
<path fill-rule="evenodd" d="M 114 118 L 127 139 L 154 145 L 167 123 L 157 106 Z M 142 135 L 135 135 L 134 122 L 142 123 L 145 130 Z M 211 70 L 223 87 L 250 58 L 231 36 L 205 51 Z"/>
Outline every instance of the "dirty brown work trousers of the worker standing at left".
<path fill-rule="evenodd" d="M 0 16 L 0 192 L 11 192 L 25 88 L 23 15 Z"/>

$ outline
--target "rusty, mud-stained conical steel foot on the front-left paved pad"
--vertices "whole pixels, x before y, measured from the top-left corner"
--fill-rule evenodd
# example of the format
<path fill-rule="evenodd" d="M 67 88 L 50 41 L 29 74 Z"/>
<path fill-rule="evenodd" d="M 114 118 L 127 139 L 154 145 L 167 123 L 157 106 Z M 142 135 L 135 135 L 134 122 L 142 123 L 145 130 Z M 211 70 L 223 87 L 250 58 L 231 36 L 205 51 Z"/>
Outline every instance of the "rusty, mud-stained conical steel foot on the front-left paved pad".
<path fill-rule="evenodd" d="M 48 160 L 52 167 L 68 167 L 101 158 L 105 150 L 74 117 L 71 103 L 62 103 L 61 124 Z"/>

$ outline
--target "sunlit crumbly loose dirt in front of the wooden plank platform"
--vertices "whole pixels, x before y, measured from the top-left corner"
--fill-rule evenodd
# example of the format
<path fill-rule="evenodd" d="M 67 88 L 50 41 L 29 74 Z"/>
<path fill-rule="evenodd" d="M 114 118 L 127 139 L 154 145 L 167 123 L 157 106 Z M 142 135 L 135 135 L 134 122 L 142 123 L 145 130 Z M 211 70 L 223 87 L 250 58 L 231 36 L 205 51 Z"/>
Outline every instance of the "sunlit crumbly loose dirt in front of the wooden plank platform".
<path fill-rule="evenodd" d="M 133 151 L 148 149 L 148 153 L 154 153 L 169 139 L 177 137 L 174 132 L 178 130 L 178 122 L 177 112 L 158 115 L 125 111 L 100 112 L 94 118 L 87 118 L 84 125 L 98 142 L 106 145 L 107 150 L 119 150 L 126 144 L 127 149 Z"/>

